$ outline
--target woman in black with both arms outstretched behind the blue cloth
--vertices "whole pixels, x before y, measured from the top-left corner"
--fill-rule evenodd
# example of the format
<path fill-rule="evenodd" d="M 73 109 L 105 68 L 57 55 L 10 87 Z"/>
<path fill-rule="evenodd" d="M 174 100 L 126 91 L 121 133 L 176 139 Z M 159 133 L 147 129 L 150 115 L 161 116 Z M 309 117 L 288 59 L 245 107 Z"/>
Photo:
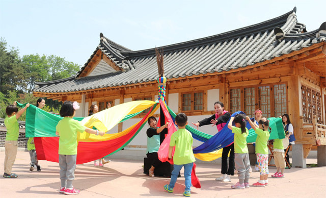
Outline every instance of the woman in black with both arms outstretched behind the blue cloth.
<path fill-rule="evenodd" d="M 214 111 L 215 111 L 214 115 L 205 118 L 197 123 L 193 123 L 197 127 L 197 129 L 198 127 L 201 127 L 203 125 L 210 125 L 210 124 L 213 124 L 212 126 L 216 125 L 218 131 L 221 131 L 223 129 L 223 127 L 226 125 L 226 122 L 228 122 L 228 120 L 230 119 L 231 114 L 228 111 L 224 110 L 224 104 L 221 102 L 214 103 Z M 229 168 L 228 168 L 229 151 L 230 151 L 230 157 L 229 157 Z M 223 174 L 223 176 L 220 178 L 216 178 L 215 180 L 223 181 L 223 182 L 231 182 L 230 176 L 234 175 L 234 144 L 233 143 L 223 148 L 221 173 Z"/>

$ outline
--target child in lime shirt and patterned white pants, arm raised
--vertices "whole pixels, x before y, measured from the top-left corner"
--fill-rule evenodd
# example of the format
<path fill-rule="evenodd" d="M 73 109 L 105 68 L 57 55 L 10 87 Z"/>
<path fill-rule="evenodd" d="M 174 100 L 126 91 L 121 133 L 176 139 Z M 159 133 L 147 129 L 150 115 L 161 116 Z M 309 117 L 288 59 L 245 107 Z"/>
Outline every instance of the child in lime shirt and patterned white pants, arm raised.
<path fill-rule="evenodd" d="M 250 123 L 250 126 L 257 133 L 256 138 L 256 156 L 258 162 L 258 168 L 260 170 L 260 178 L 257 183 L 254 183 L 253 186 L 267 186 L 268 185 L 268 147 L 267 141 L 269 138 L 269 121 L 266 118 L 262 118 L 258 121 L 259 128 L 250 120 L 248 116 L 246 119 Z"/>

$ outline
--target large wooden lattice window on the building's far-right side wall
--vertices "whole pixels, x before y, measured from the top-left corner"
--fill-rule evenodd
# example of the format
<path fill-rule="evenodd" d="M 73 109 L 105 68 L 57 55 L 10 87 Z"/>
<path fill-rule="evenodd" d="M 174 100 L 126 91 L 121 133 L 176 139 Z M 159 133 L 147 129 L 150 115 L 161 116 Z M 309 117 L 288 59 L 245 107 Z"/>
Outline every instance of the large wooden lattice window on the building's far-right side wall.
<path fill-rule="evenodd" d="M 316 115 L 317 123 L 322 123 L 320 92 L 304 85 L 301 91 L 304 122 L 312 123 L 313 115 Z"/>

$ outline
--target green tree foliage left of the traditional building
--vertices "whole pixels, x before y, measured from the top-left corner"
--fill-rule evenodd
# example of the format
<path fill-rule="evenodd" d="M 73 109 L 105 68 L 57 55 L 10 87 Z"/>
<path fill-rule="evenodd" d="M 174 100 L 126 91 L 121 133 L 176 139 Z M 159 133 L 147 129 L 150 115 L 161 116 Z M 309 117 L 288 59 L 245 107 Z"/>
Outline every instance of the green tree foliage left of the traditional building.
<path fill-rule="evenodd" d="M 32 92 L 36 82 L 53 81 L 71 77 L 79 65 L 55 55 L 30 54 L 19 57 L 17 48 L 8 47 L 0 38 L 0 117 L 6 116 L 6 107 L 19 103 L 36 105 Z M 45 98 L 44 110 L 58 113 L 61 104 Z M 20 120 L 24 120 L 25 115 Z"/>

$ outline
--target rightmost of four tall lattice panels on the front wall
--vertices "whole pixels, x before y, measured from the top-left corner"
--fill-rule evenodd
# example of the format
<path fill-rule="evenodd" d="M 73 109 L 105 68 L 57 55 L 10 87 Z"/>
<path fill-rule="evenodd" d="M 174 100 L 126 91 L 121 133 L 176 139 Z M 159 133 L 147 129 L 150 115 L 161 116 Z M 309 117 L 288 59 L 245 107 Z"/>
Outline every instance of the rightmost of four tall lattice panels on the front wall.
<path fill-rule="evenodd" d="M 274 116 L 279 117 L 286 113 L 286 86 L 285 84 L 274 85 Z"/>

